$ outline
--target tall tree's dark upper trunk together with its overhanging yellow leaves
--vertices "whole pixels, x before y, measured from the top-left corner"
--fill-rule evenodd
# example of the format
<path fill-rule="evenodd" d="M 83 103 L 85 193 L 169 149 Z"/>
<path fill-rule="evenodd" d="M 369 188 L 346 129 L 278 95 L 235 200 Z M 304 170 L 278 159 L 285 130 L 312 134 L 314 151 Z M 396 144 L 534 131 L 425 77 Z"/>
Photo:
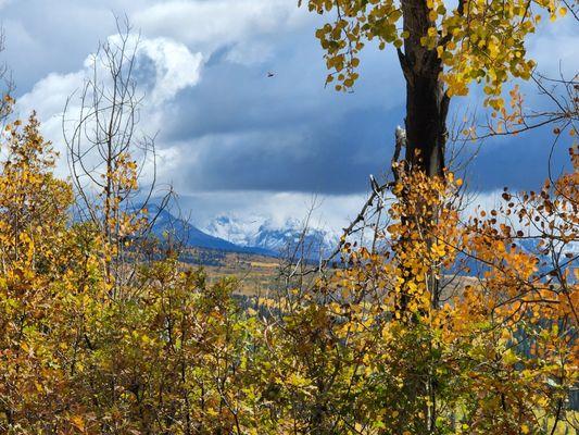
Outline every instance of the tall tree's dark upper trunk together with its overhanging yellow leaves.
<path fill-rule="evenodd" d="M 301 3 L 301 0 L 300 0 Z M 525 40 L 541 21 L 567 13 L 557 0 L 309 0 L 336 20 L 316 32 L 330 73 L 327 83 L 351 89 L 360 52 L 369 41 L 394 46 L 406 82 L 405 161 L 428 176 L 445 167 L 446 115 L 451 98 L 482 84 L 486 104 L 500 110 L 509 77 L 528 79 L 534 62 Z M 402 28 L 399 23 L 402 20 Z"/>

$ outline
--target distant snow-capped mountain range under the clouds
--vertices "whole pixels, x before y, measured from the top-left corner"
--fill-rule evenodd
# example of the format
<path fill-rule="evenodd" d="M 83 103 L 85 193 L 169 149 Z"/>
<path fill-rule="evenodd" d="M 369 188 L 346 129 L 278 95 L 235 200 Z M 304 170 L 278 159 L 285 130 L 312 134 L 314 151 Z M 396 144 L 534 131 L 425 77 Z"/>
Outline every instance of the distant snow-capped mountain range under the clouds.
<path fill-rule="evenodd" d="M 265 216 L 219 215 L 209 222 L 203 231 L 238 246 L 259 247 L 279 254 L 292 252 L 299 247 L 297 256 L 311 259 L 332 251 L 339 239 L 336 233 L 324 228 L 309 227 L 304 232 L 303 223 L 298 220 L 290 219 L 276 224 Z"/>

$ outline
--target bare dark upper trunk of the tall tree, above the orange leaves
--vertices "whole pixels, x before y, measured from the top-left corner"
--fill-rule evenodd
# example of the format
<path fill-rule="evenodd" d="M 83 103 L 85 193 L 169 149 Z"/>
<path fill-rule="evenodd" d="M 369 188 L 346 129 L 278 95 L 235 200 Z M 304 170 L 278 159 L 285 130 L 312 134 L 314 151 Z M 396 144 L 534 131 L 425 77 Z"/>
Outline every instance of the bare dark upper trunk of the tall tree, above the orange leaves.
<path fill-rule="evenodd" d="M 450 99 L 440 80 L 442 62 L 420 38 L 435 27 L 426 0 L 403 0 L 404 53 L 398 51 L 406 79 L 406 163 L 428 176 L 442 175 Z"/>

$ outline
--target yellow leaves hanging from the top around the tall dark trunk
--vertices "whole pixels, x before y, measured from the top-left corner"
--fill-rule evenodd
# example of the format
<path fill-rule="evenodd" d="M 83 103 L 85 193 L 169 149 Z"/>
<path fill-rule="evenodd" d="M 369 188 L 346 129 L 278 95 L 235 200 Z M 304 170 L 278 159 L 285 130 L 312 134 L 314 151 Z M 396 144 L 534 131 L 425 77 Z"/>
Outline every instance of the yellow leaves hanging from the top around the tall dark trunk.
<path fill-rule="evenodd" d="M 486 103 L 500 110 L 503 85 L 511 77 L 528 79 L 536 65 L 528 59 L 525 40 L 542 14 L 554 21 L 567 12 L 558 0 L 461 0 L 453 8 L 442 0 L 427 0 L 426 4 L 430 26 L 425 34 L 415 34 L 400 27 L 404 12 L 393 0 L 309 0 L 310 11 L 336 13 L 333 22 L 316 32 L 330 71 L 327 83 L 337 82 L 337 90 L 351 89 L 368 44 L 377 42 L 380 50 L 389 45 L 401 49 L 406 40 L 416 40 L 441 59 L 449 97 L 467 95 L 469 85 L 479 83 Z"/>

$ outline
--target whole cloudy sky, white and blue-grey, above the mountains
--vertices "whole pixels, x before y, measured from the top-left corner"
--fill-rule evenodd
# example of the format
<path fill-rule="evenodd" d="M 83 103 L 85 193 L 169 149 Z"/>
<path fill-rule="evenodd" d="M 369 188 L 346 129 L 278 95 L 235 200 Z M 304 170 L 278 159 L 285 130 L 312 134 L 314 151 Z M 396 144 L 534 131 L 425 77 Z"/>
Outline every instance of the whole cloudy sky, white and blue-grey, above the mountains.
<path fill-rule="evenodd" d="M 156 134 L 160 183 L 174 186 L 194 223 L 227 214 L 282 225 L 312 203 L 322 226 L 344 226 L 356 214 L 369 174 L 388 167 L 403 124 L 404 84 L 392 50 L 368 47 L 354 92 L 340 94 L 324 87 L 314 37 L 322 21 L 297 0 L 0 0 L 0 60 L 12 69 L 18 114 L 36 110 L 63 153 L 65 101 L 81 87 L 99 41 L 115 34 L 115 15 L 141 35 L 140 128 Z M 545 25 L 527 47 L 547 75 L 579 71 L 570 18 Z M 529 104 L 547 104 L 533 86 L 521 86 Z M 480 111 L 480 103 L 475 90 L 455 99 L 452 113 Z M 542 183 L 552 137 L 545 128 L 482 144 L 468 167 L 480 201 L 503 186 Z M 567 146 L 556 148 L 556 166 Z"/>

